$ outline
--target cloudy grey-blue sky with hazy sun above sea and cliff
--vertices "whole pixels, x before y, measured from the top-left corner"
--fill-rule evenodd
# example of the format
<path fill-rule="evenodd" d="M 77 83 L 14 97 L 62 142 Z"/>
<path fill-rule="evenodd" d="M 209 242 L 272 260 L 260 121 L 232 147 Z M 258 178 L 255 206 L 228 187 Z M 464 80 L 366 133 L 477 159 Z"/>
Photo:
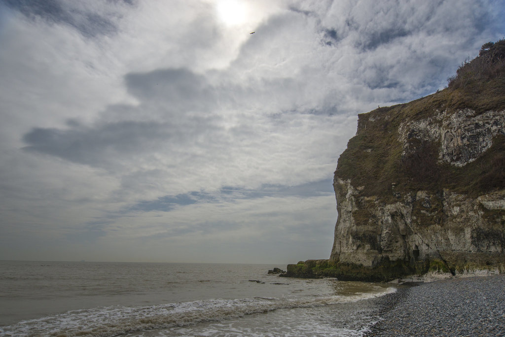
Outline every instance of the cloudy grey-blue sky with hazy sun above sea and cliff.
<path fill-rule="evenodd" d="M 443 89 L 503 17 L 502 0 L 0 0 L 0 259 L 328 258 L 358 114 Z"/>

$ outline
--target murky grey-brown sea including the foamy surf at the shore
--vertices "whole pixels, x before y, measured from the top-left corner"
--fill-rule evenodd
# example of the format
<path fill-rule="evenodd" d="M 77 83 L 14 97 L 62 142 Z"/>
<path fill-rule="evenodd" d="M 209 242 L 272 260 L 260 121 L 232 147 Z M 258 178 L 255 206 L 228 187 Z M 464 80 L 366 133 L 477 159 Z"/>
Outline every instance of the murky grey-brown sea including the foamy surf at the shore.
<path fill-rule="evenodd" d="M 274 267 L 0 261 L 0 335 L 361 336 L 396 291 Z"/>

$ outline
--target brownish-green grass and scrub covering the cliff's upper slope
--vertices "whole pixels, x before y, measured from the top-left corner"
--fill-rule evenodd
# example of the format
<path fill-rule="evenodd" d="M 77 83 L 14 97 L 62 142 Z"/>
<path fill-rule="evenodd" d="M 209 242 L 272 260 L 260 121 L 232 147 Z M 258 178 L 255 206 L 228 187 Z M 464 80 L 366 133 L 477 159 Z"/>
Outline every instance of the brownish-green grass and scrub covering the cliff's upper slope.
<path fill-rule="evenodd" d="M 421 141 L 412 135 L 411 145 L 417 150 L 402 155 L 398 141 L 402 122 L 427 119 L 437 110 L 448 114 L 463 108 L 477 114 L 505 110 L 505 40 L 491 47 L 484 44 L 479 57 L 464 63 L 457 75 L 449 79 L 448 88 L 359 115 L 358 133 L 340 155 L 335 175 L 350 179 L 355 187 L 365 186 L 363 196 L 378 195 L 385 202 L 394 201 L 396 192 L 410 190 L 440 192 L 446 188 L 479 195 L 505 189 L 505 135 L 495 137 L 484 155 L 463 167 L 439 163 L 439 143 Z"/>

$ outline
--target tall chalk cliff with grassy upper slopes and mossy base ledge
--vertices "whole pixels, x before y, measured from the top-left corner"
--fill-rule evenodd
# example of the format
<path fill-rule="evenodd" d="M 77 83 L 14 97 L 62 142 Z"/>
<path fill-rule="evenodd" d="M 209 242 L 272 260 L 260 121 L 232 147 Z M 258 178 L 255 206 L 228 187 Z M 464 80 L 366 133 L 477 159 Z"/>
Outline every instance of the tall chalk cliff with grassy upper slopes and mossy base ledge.
<path fill-rule="evenodd" d="M 334 175 L 330 259 L 287 275 L 505 272 L 504 65 L 505 41 L 486 43 L 448 88 L 359 115 Z"/>

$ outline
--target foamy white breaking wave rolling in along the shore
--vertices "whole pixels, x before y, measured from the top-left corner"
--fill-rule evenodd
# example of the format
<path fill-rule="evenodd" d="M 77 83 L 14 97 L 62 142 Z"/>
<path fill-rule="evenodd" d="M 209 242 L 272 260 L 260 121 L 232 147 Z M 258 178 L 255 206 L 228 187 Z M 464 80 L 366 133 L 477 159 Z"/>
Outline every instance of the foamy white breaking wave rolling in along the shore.
<path fill-rule="evenodd" d="M 111 306 L 69 311 L 55 316 L 24 320 L 0 327 L 7 336 L 115 336 L 135 331 L 217 322 L 278 309 L 314 308 L 357 302 L 395 292 L 384 288 L 375 293 L 306 298 L 245 298 L 201 300 L 146 307 Z"/>

